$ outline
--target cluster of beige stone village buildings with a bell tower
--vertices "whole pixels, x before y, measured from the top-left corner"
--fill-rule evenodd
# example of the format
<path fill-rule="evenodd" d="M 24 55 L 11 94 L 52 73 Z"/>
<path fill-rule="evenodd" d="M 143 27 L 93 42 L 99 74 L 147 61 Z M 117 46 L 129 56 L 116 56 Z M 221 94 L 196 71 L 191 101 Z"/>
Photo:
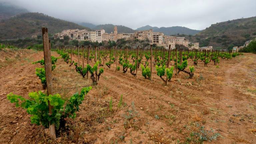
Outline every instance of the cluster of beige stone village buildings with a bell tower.
<path fill-rule="evenodd" d="M 125 40 L 149 40 L 151 44 L 156 44 L 157 46 L 163 46 L 166 49 L 170 45 L 171 49 L 175 49 L 176 45 L 183 45 L 188 49 L 200 49 L 199 43 L 190 43 L 185 37 L 175 37 L 175 36 L 166 36 L 162 32 L 153 32 L 152 29 L 150 30 L 142 30 L 136 31 L 134 33 L 118 33 L 117 27 L 114 27 L 114 33 L 106 33 L 104 29 L 96 30 L 96 31 L 88 31 L 86 29 L 79 30 L 79 29 L 69 29 L 63 30 L 60 33 L 56 33 L 54 38 L 64 39 L 64 36 L 69 36 L 70 39 L 78 40 L 78 41 L 85 41 L 89 40 L 92 42 L 99 42 L 102 41 L 117 41 L 118 39 L 125 39 Z M 209 49 L 212 47 L 204 47 L 204 49 Z"/>

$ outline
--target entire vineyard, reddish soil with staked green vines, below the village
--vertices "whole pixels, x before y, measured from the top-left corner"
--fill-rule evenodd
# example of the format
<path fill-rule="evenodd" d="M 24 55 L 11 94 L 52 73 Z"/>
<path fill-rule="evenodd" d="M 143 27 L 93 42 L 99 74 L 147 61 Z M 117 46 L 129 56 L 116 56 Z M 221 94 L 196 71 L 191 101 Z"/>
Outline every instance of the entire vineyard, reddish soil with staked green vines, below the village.
<path fill-rule="evenodd" d="M 44 51 L 0 62 L 3 143 L 256 142 L 255 54 L 51 48 L 42 31 Z"/>

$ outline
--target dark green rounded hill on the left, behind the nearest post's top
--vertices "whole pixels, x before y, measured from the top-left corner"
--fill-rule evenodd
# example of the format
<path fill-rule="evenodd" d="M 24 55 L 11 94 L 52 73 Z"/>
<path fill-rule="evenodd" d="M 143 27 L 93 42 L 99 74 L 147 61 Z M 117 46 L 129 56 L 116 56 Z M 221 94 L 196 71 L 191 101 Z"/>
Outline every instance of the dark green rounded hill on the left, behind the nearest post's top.
<path fill-rule="evenodd" d="M 57 19 L 43 13 L 22 13 L 0 22 L 0 39 L 26 38 L 41 35 L 41 28 L 47 27 L 54 34 L 64 29 L 87 29 L 73 22 Z"/>

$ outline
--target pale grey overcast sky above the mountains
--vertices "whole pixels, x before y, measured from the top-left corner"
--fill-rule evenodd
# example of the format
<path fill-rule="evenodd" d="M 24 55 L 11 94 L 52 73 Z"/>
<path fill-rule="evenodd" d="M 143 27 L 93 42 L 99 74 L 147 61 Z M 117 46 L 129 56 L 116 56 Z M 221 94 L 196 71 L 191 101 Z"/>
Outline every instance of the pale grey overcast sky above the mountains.
<path fill-rule="evenodd" d="M 256 16 L 256 0 L 0 0 L 73 22 L 184 26 L 202 30 L 217 22 Z"/>

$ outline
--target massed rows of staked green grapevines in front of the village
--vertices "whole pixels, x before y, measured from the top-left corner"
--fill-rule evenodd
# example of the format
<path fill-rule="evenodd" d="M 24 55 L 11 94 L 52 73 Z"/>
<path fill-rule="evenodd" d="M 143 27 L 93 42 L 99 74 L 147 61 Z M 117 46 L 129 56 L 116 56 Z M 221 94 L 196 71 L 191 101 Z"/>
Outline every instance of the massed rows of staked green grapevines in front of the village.
<path fill-rule="evenodd" d="M 77 49 L 77 50 L 74 50 Z M 180 72 L 187 73 L 189 78 L 192 78 L 195 72 L 195 67 L 188 66 L 188 60 L 191 59 L 194 65 L 198 65 L 199 62 L 203 62 L 205 66 L 213 62 L 217 65 L 220 59 L 231 59 L 240 55 L 238 52 L 224 51 L 224 50 L 185 50 L 185 49 L 169 49 L 168 51 L 164 48 L 150 46 L 150 49 L 141 48 L 139 46 L 136 49 L 124 48 L 117 49 L 115 47 L 95 47 L 92 48 L 88 46 L 85 48 L 82 46 L 82 51 L 80 46 L 76 47 L 57 47 L 58 51 L 64 52 L 66 54 L 76 55 L 78 57 L 78 64 L 76 64 L 76 70 L 83 76 L 84 73 L 79 68 L 79 59 L 87 59 L 87 62 L 97 62 L 98 66 L 106 65 L 111 68 L 111 65 L 115 63 L 116 70 L 120 70 L 120 64 L 122 66 L 123 73 L 127 70 L 133 76 L 137 75 L 137 69 L 141 67 L 142 76 L 146 79 L 152 80 L 152 66 L 155 65 L 157 75 L 167 84 L 170 81 L 174 69 L 176 69 L 176 75 Z M 86 49 L 87 53 L 84 52 Z M 97 50 L 98 49 L 98 50 Z M 151 58 L 152 56 L 152 58 Z M 154 57 L 154 61 L 153 61 Z M 145 59 L 145 61 L 143 61 Z M 149 65 L 148 61 L 151 60 Z M 102 63 L 103 61 L 103 63 Z M 153 64 L 152 64 L 153 61 Z M 172 62 L 173 61 L 173 62 Z M 87 64 L 88 64 L 87 63 Z M 171 67 L 169 68 L 169 64 Z M 150 67 L 150 68 L 149 68 Z M 189 68 L 188 70 L 186 70 Z M 149 70 L 150 69 L 150 70 Z M 83 68 L 82 68 L 83 70 Z M 85 72 L 85 71 L 84 71 Z M 166 79 L 163 76 L 166 75 Z M 84 76 L 83 76 L 84 77 Z M 87 76 L 88 78 L 88 76 Z"/>

